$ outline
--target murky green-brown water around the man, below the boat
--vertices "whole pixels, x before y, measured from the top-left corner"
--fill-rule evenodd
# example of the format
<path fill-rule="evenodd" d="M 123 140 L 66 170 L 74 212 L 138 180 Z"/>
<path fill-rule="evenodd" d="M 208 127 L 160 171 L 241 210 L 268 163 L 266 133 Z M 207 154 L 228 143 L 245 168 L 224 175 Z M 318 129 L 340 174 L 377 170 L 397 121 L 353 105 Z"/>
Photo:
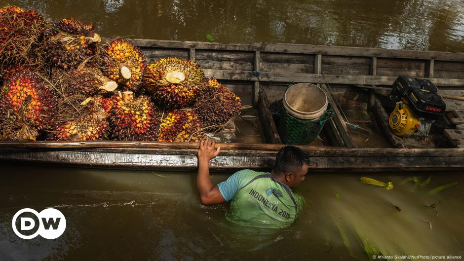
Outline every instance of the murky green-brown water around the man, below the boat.
<path fill-rule="evenodd" d="M 368 260 L 359 235 L 384 255 L 464 256 L 464 186 L 427 195 L 463 173 L 433 173 L 425 189 L 400 186 L 406 174 L 371 176 L 393 181 L 389 191 L 358 175 L 309 175 L 302 216 L 278 230 L 235 227 L 226 205 L 200 205 L 194 173 L 157 174 L 2 166 L 0 260 L 353 260 L 342 234 L 357 260 Z M 19 239 L 11 219 L 25 207 L 59 209 L 66 231 Z"/>

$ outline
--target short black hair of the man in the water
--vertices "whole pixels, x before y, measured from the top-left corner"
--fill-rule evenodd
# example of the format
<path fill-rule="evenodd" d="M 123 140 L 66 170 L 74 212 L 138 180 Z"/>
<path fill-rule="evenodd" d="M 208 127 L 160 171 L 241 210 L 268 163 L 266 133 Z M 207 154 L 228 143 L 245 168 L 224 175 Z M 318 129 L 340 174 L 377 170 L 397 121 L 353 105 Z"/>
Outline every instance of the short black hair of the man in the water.
<path fill-rule="evenodd" d="M 309 165 L 308 154 L 300 148 L 285 146 L 277 152 L 274 172 L 276 174 L 296 172 L 303 167 L 303 164 Z"/>

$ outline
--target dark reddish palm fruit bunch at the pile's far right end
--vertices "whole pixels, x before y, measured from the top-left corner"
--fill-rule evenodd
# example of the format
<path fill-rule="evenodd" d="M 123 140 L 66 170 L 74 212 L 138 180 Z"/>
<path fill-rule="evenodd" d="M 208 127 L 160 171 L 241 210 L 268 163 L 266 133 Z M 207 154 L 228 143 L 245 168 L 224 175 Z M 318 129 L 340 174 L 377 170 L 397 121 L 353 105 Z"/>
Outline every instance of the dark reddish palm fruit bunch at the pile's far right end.
<path fill-rule="evenodd" d="M 209 79 L 193 106 L 201 123 L 211 131 L 221 131 L 241 108 L 238 98 L 216 79 Z"/>

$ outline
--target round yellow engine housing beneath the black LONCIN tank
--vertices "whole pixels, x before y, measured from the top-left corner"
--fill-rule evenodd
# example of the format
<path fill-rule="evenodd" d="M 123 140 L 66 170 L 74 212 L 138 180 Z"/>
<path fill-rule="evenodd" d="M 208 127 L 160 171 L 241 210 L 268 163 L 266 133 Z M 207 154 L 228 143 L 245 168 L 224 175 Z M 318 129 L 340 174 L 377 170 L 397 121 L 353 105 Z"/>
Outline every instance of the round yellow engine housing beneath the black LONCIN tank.
<path fill-rule="evenodd" d="M 402 105 L 403 108 L 400 109 L 400 104 L 396 104 L 395 110 L 390 114 L 389 125 L 394 134 L 400 137 L 409 137 L 417 131 L 421 121 L 409 108 L 406 100 L 403 100 Z"/>

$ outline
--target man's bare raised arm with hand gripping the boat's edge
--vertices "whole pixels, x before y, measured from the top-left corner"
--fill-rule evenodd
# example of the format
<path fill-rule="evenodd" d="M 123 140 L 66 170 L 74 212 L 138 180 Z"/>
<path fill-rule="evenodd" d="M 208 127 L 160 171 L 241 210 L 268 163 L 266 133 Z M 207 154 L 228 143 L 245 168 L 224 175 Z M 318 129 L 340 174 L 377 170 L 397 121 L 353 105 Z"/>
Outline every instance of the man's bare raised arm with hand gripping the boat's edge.
<path fill-rule="evenodd" d="M 196 184 L 200 193 L 200 202 L 203 205 L 223 203 L 226 200 L 219 191 L 218 186 L 214 186 L 209 176 L 209 160 L 215 158 L 221 148 L 214 149 L 214 141 L 200 141 L 200 148 L 196 153 L 198 158 L 198 176 Z"/>

